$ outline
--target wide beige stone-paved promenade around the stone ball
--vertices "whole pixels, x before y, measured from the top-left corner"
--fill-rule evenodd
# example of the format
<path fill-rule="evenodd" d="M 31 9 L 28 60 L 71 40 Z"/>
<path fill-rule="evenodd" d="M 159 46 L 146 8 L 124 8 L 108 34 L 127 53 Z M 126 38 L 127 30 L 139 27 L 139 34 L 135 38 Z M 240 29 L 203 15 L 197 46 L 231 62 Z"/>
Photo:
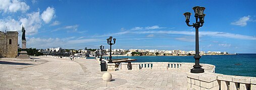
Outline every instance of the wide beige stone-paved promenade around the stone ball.
<path fill-rule="evenodd" d="M 183 70 L 110 71 L 113 81 L 104 82 L 94 59 L 35 57 L 37 61 L 0 58 L 0 89 L 186 89 Z"/>

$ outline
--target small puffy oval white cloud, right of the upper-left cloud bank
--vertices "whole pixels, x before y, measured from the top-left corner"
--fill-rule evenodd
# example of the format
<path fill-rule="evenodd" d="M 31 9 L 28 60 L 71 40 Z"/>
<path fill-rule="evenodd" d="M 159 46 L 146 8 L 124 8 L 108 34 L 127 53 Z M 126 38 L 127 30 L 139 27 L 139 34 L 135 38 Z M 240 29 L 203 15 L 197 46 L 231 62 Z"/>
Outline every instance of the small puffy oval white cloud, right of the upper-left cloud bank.
<path fill-rule="evenodd" d="M 49 23 L 50 20 L 55 16 L 55 8 L 54 7 L 47 7 L 41 14 L 41 18 L 45 23 Z"/>

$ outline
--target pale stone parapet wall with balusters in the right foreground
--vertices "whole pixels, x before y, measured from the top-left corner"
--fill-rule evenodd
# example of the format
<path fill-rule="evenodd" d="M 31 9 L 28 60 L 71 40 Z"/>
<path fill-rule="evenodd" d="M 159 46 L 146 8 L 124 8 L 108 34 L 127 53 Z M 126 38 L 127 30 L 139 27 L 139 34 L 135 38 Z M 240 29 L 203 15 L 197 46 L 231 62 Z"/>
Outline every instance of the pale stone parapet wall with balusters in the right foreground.
<path fill-rule="evenodd" d="M 187 73 L 187 89 L 256 90 L 256 77 L 219 73 Z"/>

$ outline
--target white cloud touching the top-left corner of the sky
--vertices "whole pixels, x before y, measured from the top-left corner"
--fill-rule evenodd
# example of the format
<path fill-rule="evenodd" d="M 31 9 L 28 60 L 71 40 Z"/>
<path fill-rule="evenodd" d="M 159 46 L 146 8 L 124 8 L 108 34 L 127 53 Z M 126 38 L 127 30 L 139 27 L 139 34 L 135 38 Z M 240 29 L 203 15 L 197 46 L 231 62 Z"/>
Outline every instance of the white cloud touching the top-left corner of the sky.
<path fill-rule="evenodd" d="M 6 12 L 25 12 L 29 9 L 29 6 L 20 0 L 1 0 L 0 11 L 3 10 Z"/>

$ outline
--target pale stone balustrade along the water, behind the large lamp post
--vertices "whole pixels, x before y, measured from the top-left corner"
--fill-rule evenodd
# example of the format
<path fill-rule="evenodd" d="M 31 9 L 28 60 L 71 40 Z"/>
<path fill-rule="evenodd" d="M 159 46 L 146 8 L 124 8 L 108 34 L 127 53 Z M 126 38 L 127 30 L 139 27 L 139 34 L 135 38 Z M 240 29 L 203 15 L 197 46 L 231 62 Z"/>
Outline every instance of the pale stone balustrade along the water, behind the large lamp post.
<path fill-rule="evenodd" d="M 179 69 L 179 70 L 190 70 L 193 68 L 194 63 L 189 62 L 132 62 L 132 69 Z M 128 63 L 120 63 L 118 69 L 128 69 Z M 214 72 L 215 65 L 212 64 L 201 64 L 202 68 L 207 72 Z"/>

